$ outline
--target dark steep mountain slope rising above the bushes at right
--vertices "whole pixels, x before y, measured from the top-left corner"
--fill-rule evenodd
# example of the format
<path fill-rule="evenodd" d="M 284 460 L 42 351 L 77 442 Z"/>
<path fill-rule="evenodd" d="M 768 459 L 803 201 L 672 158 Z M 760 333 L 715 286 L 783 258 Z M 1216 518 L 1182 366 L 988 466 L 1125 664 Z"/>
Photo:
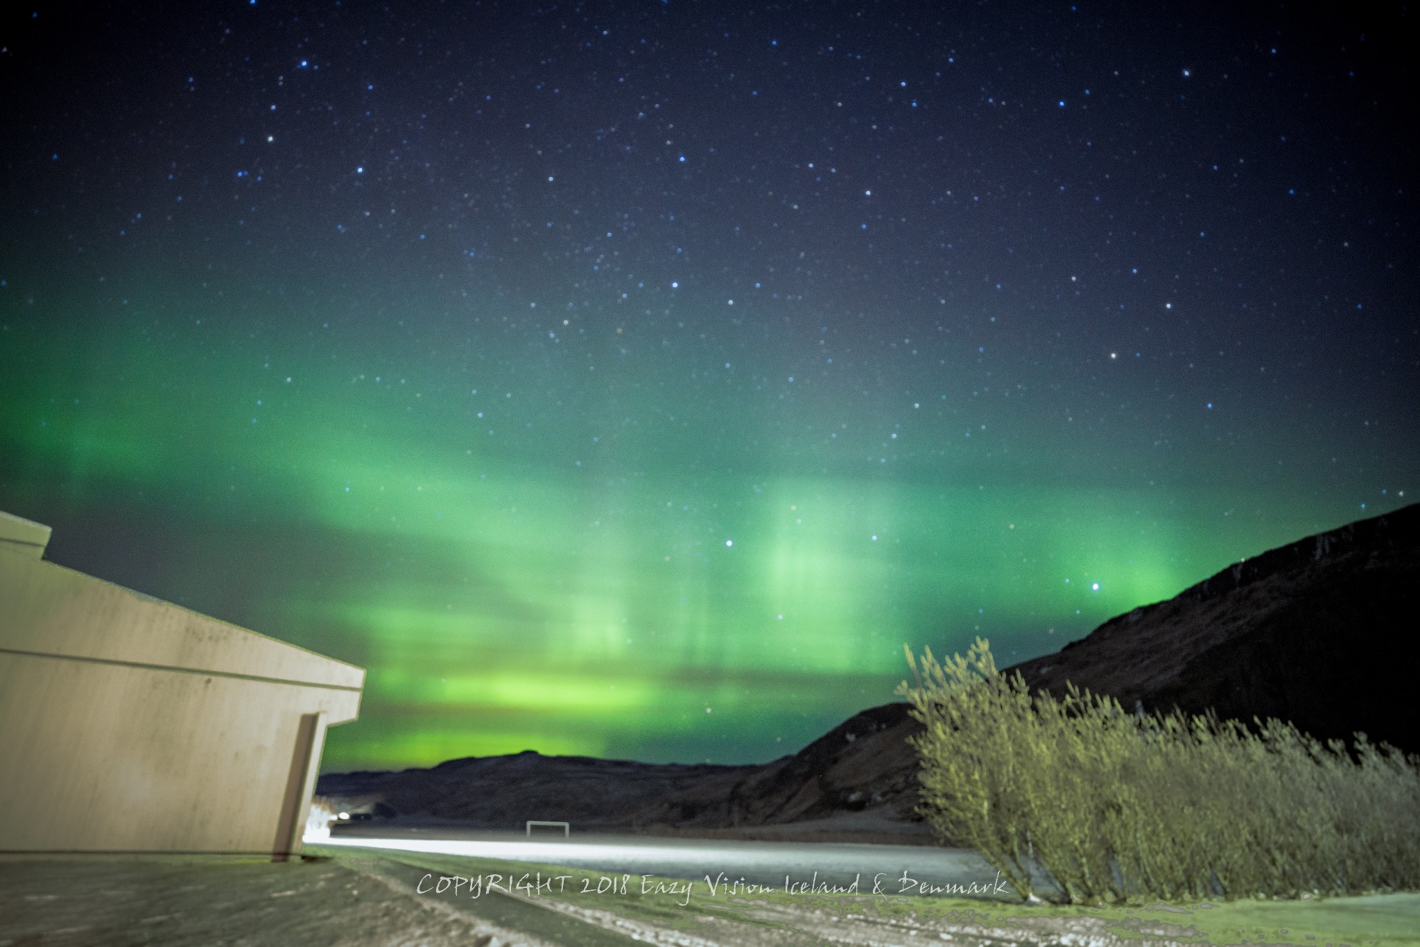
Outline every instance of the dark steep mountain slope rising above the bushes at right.
<path fill-rule="evenodd" d="M 1237 562 L 1011 670 L 1056 696 L 1071 680 L 1127 708 L 1278 717 L 1321 738 L 1359 730 L 1420 752 L 1403 659 L 1417 626 L 1410 505 Z"/>

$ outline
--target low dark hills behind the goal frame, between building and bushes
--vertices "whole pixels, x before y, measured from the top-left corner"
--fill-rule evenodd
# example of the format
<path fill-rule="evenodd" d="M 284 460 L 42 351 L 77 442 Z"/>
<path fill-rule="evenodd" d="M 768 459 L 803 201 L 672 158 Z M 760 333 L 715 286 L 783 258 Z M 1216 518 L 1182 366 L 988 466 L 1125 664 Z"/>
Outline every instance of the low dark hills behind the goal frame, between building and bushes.
<path fill-rule="evenodd" d="M 429 770 L 328 774 L 317 792 L 334 808 L 490 831 L 555 819 L 579 832 L 799 838 L 784 829 L 808 826 L 814 838 L 917 843 L 930 839 L 913 812 L 916 758 L 906 737 L 917 724 L 906 710 L 865 710 L 799 752 L 758 765 L 544 757 L 527 750 Z"/>

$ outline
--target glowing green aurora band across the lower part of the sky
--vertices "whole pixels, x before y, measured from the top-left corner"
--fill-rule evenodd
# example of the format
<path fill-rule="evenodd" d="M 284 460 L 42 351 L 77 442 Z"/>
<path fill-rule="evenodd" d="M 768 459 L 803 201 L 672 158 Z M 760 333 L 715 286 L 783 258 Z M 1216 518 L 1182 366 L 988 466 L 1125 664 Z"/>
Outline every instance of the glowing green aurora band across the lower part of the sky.
<path fill-rule="evenodd" d="M 845 410 L 814 398 L 825 372 L 731 427 L 711 415 L 755 412 L 724 372 L 714 403 L 676 392 L 665 375 L 693 355 L 636 368 L 621 346 L 639 341 L 608 329 L 567 355 L 616 372 L 572 413 L 558 402 L 592 392 L 562 352 L 531 386 L 510 361 L 452 368 L 477 361 L 469 339 L 425 365 L 419 344 L 358 339 L 324 358 L 287 339 L 301 354 L 277 361 L 224 338 L 243 324 L 220 311 L 158 310 L 92 335 L 55 314 L 4 327 L 10 507 L 57 521 L 51 558 L 368 667 L 328 770 L 528 748 L 763 761 L 892 700 L 905 643 L 983 633 L 1024 660 L 1335 524 L 1242 484 L 1089 483 L 1052 460 L 1056 419 L 963 412 L 968 392 L 912 378 Z M 430 381 L 450 376 L 470 383 Z M 65 555 L 105 528 L 108 559 Z"/>

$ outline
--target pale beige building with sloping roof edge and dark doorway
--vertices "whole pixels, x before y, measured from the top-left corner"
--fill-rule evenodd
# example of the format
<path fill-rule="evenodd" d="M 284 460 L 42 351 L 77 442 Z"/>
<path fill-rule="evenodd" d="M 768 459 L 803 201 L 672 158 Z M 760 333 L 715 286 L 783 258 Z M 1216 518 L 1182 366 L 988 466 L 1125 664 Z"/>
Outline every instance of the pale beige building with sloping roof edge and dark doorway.
<path fill-rule="evenodd" d="M 365 672 L 44 559 L 0 513 L 0 852 L 301 848 Z"/>

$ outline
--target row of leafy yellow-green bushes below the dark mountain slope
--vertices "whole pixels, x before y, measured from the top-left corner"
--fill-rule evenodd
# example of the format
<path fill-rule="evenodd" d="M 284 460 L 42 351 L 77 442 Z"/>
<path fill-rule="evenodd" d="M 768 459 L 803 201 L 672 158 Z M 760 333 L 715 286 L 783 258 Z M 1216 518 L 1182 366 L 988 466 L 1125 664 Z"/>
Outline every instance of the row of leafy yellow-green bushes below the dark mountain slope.
<path fill-rule="evenodd" d="M 1322 745 L 1277 720 L 1127 714 L 1071 689 L 1031 694 L 985 640 L 907 652 L 899 693 L 926 730 L 920 811 L 1034 900 L 1306 897 L 1420 886 L 1420 761 L 1358 734 Z"/>

